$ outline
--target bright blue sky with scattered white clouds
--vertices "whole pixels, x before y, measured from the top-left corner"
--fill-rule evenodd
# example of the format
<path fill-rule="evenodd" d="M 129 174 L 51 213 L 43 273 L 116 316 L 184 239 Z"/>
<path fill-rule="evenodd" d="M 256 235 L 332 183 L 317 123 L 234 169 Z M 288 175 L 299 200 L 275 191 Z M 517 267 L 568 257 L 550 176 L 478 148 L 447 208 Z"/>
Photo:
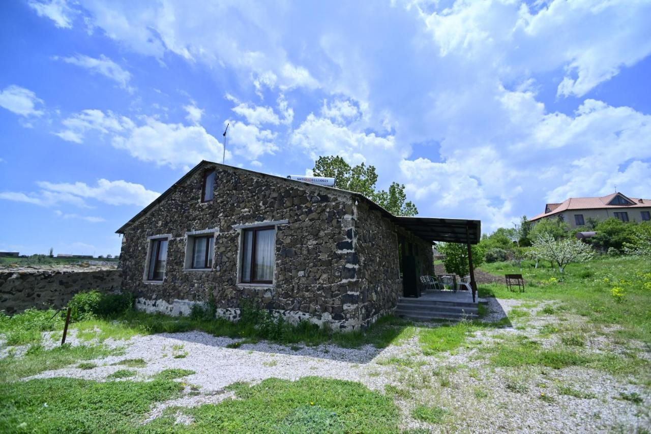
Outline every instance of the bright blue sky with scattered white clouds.
<path fill-rule="evenodd" d="M 375 165 L 484 232 L 651 198 L 651 1 L 6 1 L 0 250 L 117 254 L 201 159 Z"/>

